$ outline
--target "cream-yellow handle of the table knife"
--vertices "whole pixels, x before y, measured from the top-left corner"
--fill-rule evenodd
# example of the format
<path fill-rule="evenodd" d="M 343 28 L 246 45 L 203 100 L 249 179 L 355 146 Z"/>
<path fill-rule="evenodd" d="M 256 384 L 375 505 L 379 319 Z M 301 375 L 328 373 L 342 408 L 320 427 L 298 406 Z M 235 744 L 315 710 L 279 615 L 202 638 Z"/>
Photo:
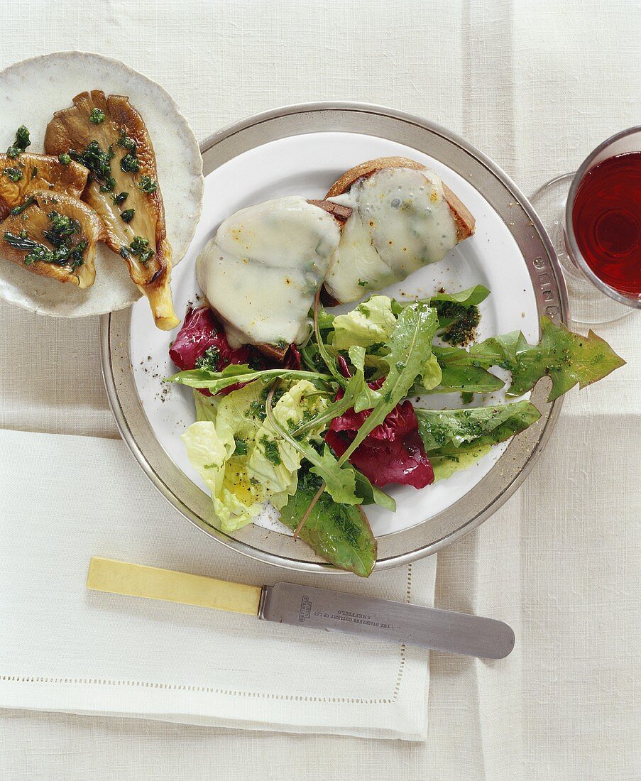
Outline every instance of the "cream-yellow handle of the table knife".
<path fill-rule="evenodd" d="M 189 572 L 174 572 L 141 564 L 116 562 L 112 558 L 91 558 L 87 588 L 126 594 L 129 597 L 164 599 L 197 604 L 234 613 L 258 615 L 262 587 L 230 583 Z"/>

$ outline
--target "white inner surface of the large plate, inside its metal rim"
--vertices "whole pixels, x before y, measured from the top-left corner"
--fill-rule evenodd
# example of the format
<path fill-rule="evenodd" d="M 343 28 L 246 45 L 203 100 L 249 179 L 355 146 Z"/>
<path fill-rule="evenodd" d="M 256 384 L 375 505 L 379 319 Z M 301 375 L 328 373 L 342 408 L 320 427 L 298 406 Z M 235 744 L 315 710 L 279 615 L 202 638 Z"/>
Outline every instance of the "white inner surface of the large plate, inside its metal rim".
<path fill-rule="evenodd" d="M 428 155 L 384 138 L 348 133 L 315 133 L 272 141 L 239 155 L 205 178 L 203 216 L 183 263 L 173 275 L 178 316 L 184 315 L 188 302 L 198 298 L 196 258 L 232 212 L 280 195 L 322 198 L 347 169 L 365 160 L 390 155 L 411 157 L 433 168 L 475 216 L 476 233 L 458 244 L 441 262 L 425 266 L 402 283 L 381 292 L 397 298 L 422 298 L 436 293 L 440 287 L 455 292 L 483 284 L 492 292 L 481 305 L 479 338 L 521 329 L 526 337 L 535 340 L 539 324 L 528 270 L 514 237 L 483 195 L 458 173 Z M 355 305 L 333 311 L 347 312 Z M 171 336 L 156 333 L 143 301 L 134 305 L 131 360 L 144 411 L 169 457 L 198 487 L 206 490 L 180 440 L 185 426 L 194 419 L 191 388 L 170 385 L 168 392 L 162 393 L 161 378 L 176 371 L 167 354 L 174 336 L 175 332 Z M 495 398 L 501 397 L 492 400 Z M 424 401 L 433 408 L 458 407 L 461 395 L 431 396 Z M 476 401 L 484 403 L 490 398 L 477 397 Z M 377 506 L 367 509 L 376 537 L 408 529 L 454 504 L 490 471 L 504 448 L 504 445 L 493 448 L 478 465 L 423 490 L 411 486 L 391 487 L 389 493 L 397 501 L 397 512 Z M 272 513 L 267 513 L 257 522 L 269 524 L 271 519 Z"/>

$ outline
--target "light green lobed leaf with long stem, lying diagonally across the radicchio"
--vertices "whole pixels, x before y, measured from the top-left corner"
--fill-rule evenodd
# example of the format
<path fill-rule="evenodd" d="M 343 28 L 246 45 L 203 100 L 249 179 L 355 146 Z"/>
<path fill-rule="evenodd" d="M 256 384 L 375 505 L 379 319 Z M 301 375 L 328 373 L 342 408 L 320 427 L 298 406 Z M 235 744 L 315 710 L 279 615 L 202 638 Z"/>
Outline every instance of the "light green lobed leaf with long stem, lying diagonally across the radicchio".
<path fill-rule="evenodd" d="M 429 360 L 437 327 L 436 311 L 425 304 L 417 302 L 408 305 L 401 312 L 388 342 L 390 352 L 386 360 L 390 370 L 379 391 L 380 401 L 340 457 L 339 464 L 347 461 L 370 431 L 383 423 L 399 401 L 407 396 Z"/>

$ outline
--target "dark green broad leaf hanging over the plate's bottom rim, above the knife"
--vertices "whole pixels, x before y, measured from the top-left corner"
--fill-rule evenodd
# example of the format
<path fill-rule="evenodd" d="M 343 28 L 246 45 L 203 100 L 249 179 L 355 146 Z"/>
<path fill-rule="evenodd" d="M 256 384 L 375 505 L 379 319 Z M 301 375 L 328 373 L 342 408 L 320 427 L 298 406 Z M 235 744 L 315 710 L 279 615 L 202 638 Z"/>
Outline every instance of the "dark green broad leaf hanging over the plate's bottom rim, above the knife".
<path fill-rule="evenodd" d="M 302 476 L 298 490 L 280 510 L 280 520 L 295 530 L 320 487 L 312 475 Z M 340 569 L 366 578 L 376 563 L 376 538 L 360 506 L 337 505 L 322 493 L 299 536 L 322 558 Z"/>

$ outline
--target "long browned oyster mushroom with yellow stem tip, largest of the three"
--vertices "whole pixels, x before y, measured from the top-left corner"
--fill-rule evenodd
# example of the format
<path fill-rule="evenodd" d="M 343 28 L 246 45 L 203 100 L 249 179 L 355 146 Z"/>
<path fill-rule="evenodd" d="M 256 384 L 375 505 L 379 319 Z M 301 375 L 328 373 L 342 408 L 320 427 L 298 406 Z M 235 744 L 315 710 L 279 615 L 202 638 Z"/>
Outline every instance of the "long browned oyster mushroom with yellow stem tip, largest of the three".
<path fill-rule="evenodd" d="M 105 223 L 105 242 L 129 266 L 158 328 L 178 324 L 169 280 L 171 245 L 154 148 L 141 115 L 121 95 L 83 92 L 55 112 L 45 151 L 69 154 L 89 169 L 84 201 Z"/>

